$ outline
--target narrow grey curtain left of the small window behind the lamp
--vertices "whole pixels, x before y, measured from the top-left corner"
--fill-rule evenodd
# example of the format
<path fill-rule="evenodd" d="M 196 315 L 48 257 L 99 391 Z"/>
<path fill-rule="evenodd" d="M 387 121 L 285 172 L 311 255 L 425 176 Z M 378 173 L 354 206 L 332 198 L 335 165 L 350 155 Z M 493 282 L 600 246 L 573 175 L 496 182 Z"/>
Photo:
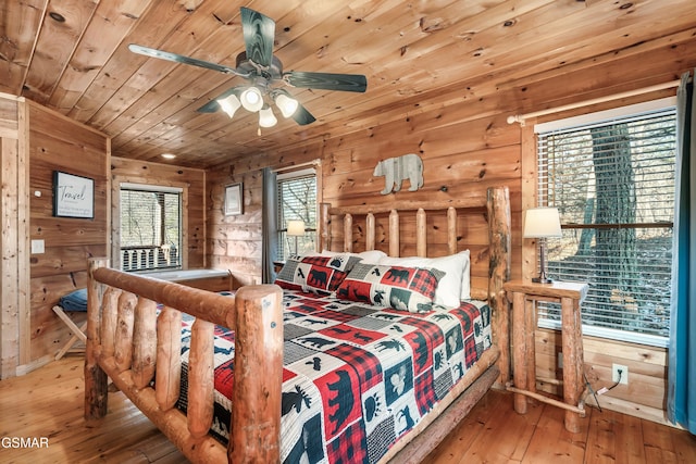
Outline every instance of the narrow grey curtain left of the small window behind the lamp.
<path fill-rule="evenodd" d="M 270 167 L 263 170 L 263 192 L 261 195 L 262 234 L 261 238 L 261 280 L 272 284 L 275 280 L 273 262 L 277 260 L 277 211 L 278 195 L 275 173 Z"/>

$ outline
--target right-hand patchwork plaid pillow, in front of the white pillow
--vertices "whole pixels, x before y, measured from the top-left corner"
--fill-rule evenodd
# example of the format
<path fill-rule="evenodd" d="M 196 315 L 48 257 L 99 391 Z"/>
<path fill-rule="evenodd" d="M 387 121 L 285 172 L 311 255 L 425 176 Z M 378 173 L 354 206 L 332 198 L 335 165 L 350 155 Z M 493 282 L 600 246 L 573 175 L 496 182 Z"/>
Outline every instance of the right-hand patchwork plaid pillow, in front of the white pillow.
<path fill-rule="evenodd" d="M 431 311 L 442 271 L 356 264 L 336 297 L 411 313 Z"/>

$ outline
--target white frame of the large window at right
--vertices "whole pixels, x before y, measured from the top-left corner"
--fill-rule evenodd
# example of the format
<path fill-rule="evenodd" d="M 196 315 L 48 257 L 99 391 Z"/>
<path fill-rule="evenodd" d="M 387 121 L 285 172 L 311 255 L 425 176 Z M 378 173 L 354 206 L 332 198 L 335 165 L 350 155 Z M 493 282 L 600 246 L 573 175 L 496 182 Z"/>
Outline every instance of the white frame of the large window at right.
<path fill-rule="evenodd" d="M 533 205 L 537 206 L 537 205 L 543 205 L 542 203 L 544 203 L 544 201 L 542 201 L 540 199 L 540 193 L 539 193 L 542 189 L 542 186 L 540 186 L 542 179 L 539 178 L 540 174 L 539 174 L 539 167 L 538 167 L 538 163 L 539 163 L 538 135 L 539 134 L 549 133 L 554 130 L 569 129 L 576 126 L 586 126 L 591 124 L 601 124 L 601 123 L 609 124 L 612 120 L 624 118 L 631 115 L 637 115 L 641 113 L 647 113 L 652 111 L 667 110 L 672 106 L 675 106 L 675 104 L 676 104 L 675 97 L 668 97 L 668 98 L 650 100 L 650 101 L 646 101 L 637 104 L 624 105 L 624 106 L 614 108 L 610 110 L 592 112 L 592 113 L 586 113 L 582 115 L 558 118 L 554 121 L 535 124 L 533 126 L 533 133 L 534 133 L 533 134 L 533 140 L 534 140 L 534 143 L 533 143 L 534 146 L 533 147 L 533 159 L 534 159 L 533 203 L 534 204 Z M 532 204 L 530 204 L 530 206 L 532 206 Z M 535 255 L 538 255 L 538 246 L 539 243 L 536 243 L 536 247 L 533 248 L 533 253 Z M 530 268 L 533 269 L 532 272 L 533 273 L 536 272 L 538 266 L 537 260 L 536 259 L 531 260 L 530 263 L 531 263 Z M 560 321 L 545 318 L 540 315 L 539 317 L 537 317 L 537 325 L 542 328 L 549 328 L 549 329 L 557 329 L 557 330 L 561 328 Z M 626 341 L 626 342 L 661 347 L 661 348 L 666 348 L 669 344 L 668 336 L 662 337 L 654 334 L 643 334 L 637 331 L 601 327 L 601 326 L 588 325 L 585 323 L 583 323 L 582 327 L 583 327 L 583 334 L 587 336 L 608 338 L 611 340 Z"/>

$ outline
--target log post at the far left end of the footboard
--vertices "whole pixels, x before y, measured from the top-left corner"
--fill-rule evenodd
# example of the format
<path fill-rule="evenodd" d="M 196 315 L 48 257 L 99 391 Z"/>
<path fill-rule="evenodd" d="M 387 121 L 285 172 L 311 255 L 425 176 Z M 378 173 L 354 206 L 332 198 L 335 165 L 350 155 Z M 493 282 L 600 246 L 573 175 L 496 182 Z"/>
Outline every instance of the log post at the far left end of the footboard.
<path fill-rule="evenodd" d="M 105 258 L 91 258 L 88 261 L 87 285 L 87 343 L 85 350 L 85 419 L 98 419 L 107 415 L 108 384 L 107 374 L 101 369 L 97 358 L 97 347 L 100 344 L 99 305 L 103 293 L 103 285 L 95 280 L 95 271 L 109 267 Z"/>

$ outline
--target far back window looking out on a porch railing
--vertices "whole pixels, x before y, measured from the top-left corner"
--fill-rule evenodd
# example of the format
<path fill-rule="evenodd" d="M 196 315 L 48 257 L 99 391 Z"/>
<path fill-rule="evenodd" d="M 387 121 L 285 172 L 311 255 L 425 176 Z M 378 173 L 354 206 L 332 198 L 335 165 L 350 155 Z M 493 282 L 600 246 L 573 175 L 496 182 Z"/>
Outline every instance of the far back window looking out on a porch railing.
<path fill-rule="evenodd" d="M 182 266 L 182 189 L 121 185 L 121 268 Z"/>

